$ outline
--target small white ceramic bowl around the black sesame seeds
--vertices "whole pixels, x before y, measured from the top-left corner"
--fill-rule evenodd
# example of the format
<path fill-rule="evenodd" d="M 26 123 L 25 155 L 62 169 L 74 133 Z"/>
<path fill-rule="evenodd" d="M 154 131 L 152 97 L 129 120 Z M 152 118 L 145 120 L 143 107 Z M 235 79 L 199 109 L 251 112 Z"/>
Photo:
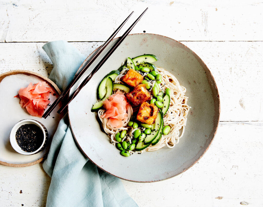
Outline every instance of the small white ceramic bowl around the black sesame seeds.
<path fill-rule="evenodd" d="M 43 135 L 44 135 L 43 142 L 42 142 L 41 146 L 36 151 L 25 152 L 19 147 L 19 145 L 16 141 L 16 132 L 17 132 L 18 128 L 21 127 L 22 125 L 25 125 L 25 124 L 34 124 L 34 125 L 38 126 L 41 129 L 41 131 L 43 132 Z M 24 155 L 31 155 L 31 154 L 39 153 L 40 151 L 42 151 L 44 149 L 47 141 L 48 141 L 48 131 L 47 131 L 46 127 L 42 123 L 40 123 L 39 121 L 36 121 L 33 119 L 24 119 L 24 120 L 17 122 L 13 126 L 13 128 L 10 132 L 10 143 L 11 143 L 13 149 L 15 151 L 17 151 L 18 153 L 24 154 Z"/>

